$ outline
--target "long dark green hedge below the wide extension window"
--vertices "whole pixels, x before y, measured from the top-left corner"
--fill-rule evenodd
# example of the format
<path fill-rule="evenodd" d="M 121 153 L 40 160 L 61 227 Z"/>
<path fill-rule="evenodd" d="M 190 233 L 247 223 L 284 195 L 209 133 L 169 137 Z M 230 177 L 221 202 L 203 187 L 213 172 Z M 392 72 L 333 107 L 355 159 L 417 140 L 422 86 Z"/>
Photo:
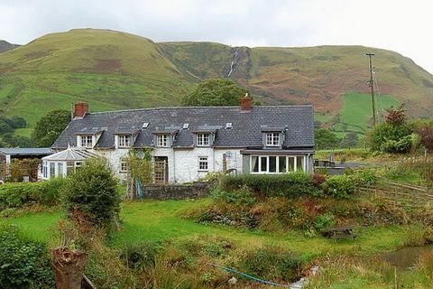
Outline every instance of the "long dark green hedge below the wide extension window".
<path fill-rule="evenodd" d="M 261 193 L 266 197 L 298 197 L 301 195 L 318 196 L 320 191 L 308 173 L 294 172 L 283 174 L 240 174 L 221 178 L 219 189 L 235 191 L 242 187 Z"/>

